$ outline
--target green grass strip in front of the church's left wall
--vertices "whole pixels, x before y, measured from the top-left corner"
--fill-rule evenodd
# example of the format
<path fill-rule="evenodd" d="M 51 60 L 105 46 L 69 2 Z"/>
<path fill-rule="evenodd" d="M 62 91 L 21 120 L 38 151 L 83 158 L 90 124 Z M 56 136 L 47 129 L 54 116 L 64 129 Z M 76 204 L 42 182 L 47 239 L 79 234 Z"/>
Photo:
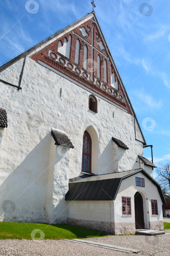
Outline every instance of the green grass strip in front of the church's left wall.
<path fill-rule="evenodd" d="M 103 232 L 99 234 L 98 230 L 86 229 L 83 227 L 66 224 L 48 225 L 44 223 L 0 222 L 0 239 L 31 240 L 31 232 L 35 229 L 39 229 L 44 232 L 44 239 L 55 240 L 101 237 L 106 235 L 106 233 Z M 38 240 L 38 238 L 40 238 L 40 233 L 35 234 L 35 239 Z"/>

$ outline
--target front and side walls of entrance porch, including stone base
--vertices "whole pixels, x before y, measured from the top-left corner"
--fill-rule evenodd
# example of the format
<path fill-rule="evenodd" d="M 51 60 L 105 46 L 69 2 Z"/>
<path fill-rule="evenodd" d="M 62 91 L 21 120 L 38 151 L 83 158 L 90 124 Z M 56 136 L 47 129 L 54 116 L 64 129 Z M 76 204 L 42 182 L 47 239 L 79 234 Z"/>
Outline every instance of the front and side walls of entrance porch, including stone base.
<path fill-rule="evenodd" d="M 135 177 L 145 179 L 145 187 L 136 187 Z M 145 228 L 162 229 L 162 201 L 157 187 L 142 173 L 126 178 L 122 181 L 115 201 L 67 201 L 67 218 L 69 223 L 84 226 L 90 222 L 91 228 L 115 234 L 135 233 L 134 195 L 141 193 L 143 199 L 143 213 Z M 122 215 L 122 196 L 131 197 L 131 215 Z M 158 215 L 153 216 L 151 199 L 158 202 Z M 98 226 L 96 224 L 98 221 Z M 109 223 L 111 223 L 109 225 Z"/>

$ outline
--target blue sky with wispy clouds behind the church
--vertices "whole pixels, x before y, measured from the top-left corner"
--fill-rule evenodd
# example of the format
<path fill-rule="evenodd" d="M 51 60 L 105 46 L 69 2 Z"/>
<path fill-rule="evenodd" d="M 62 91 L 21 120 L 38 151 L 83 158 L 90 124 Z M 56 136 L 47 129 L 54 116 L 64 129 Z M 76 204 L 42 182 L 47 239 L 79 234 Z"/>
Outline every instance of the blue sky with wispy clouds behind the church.
<path fill-rule="evenodd" d="M 154 163 L 164 163 L 170 160 L 170 1 L 94 2 L 146 142 L 153 144 Z M 0 0 L 0 5 L 0 65 L 92 11 L 91 0 Z M 151 159 L 150 148 L 144 156 Z"/>

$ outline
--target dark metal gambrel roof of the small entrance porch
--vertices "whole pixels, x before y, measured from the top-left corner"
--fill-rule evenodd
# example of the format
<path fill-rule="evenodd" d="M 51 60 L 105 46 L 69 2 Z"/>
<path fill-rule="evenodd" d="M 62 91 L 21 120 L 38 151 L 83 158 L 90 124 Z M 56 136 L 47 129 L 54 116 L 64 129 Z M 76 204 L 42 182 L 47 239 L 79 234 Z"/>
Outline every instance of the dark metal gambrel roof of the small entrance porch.
<path fill-rule="evenodd" d="M 68 184 L 66 200 L 115 200 L 122 180 L 139 172 L 157 187 L 162 203 L 166 203 L 160 185 L 143 169 L 96 175 L 72 181 Z"/>

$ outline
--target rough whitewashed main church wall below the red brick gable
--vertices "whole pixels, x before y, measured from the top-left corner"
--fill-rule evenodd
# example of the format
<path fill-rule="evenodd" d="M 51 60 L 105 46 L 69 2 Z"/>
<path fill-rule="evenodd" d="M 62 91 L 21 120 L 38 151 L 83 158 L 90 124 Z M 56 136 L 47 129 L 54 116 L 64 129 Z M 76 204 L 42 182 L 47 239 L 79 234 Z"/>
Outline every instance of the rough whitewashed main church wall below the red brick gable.
<path fill-rule="evenodd" d="M 22 63 L 20 60 L 11 65 L 0 73 L 0 78 L 17 85 Z M 138 168 L 135 161 L 143 149 L 142 143 L 135 140 L 133 116 L 97 95 L 98 113 L 92 112 L 88 109 L 88 96 L 92 91 L 70 82 L 29 57 L 26 58 L 21 87 L 22 90 L 17 91 L 0 83 L 0 107 L 7 110 L 8 116 L 8 128 L 4 129 L 0 148 L 0 204 L 9 199 L 16 205 L 10 214 L 0 210 L 1 221 L 43 222 L 51 219 L 48 207 L 52 207 L 54 202 L 49 203 L 47 199 L 54 196 L 50 195 L 50 188 L 55 190 L 55 186 L 49 174 L 52 169 L 49 163 L 51 154 L 54 156 L 56 150 L 56 146 L 51 147 L 51 129 L 66 132 L 75 146 L 66 157 L 69 178 L 81 173 L 83 133 L 90 125 L 99 138 L 96 174 L 113 172 L 112 136 L 129 147 L 119 156 L 117 171 Z M 64 173 L 65 166 L 60 167 L 60 172 Z M 55 176 L 53 178 L 55 183 Z M 60 189 L 63 195 L 65 185 Z"/>

